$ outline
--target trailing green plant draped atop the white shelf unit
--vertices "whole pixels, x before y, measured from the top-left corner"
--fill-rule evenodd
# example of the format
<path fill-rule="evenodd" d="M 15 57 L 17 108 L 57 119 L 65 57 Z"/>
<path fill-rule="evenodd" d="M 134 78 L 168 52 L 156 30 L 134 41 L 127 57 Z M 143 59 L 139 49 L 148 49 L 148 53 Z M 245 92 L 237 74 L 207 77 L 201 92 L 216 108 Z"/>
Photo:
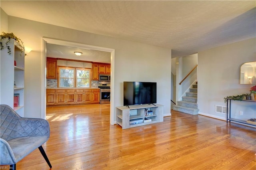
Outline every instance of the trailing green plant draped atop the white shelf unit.
<path fill-rule="evenodd" d="M 2 42 L 2 40 L 4 40 L 4 38 L 8 38 L 8 40 L 7 40 L 6 43 L 5 43 L 5 46 L 4 46 L 3 42 Z M 0 49 L 2 50 L 2 49 L 4 49 L 4 47 L 6 47 L 8 54 L 11 54 L 11 53 L 12 53 L 12 50 L 11 50 L 11 48 L 10 48 L 10 46 L 9 46 L 9 42 L 10 42 L 10 40 L 11 40 L 12 38 L 13 38 L 14 40 L 16 40 L 16 42 L 18 43 L 18 45 L 20 45 L 20 47 L 22 48 L 22 52 L 21 52 L 21 54 L 20 54 L 20 55 L 22 55 L 23 51 L 25 51 L 24 44 L 23 44 L 22 40 L 21 40 L 20 38 L 18 38 L 17 36 L 15 36 L 13 33 L 5 33 L 5 32 L 2 32 L 2 34 L 1 34 L 1 40 L 0 40 Z"/>

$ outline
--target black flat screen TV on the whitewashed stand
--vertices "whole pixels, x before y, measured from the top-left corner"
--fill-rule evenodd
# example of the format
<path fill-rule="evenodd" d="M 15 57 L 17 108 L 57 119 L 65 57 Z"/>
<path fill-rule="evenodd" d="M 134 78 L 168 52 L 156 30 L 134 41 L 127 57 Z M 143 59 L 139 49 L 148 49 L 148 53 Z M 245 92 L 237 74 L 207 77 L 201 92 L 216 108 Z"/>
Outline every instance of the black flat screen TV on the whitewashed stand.
<path fill-rule="evenodd" d="M 156 103 L 156 83 L 124 81 L 124 106 Z"/>

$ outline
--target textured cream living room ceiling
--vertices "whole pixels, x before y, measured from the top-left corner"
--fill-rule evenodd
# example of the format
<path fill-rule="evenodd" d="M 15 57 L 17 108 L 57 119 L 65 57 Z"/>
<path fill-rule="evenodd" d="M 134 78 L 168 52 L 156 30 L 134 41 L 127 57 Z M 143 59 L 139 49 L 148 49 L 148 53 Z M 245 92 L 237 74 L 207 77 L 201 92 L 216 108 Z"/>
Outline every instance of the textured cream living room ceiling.
<path fill-rule="evenodd" d="M 170 48 L 172 57 L 254 38 L 255 6 L 254 0 L 1 0 L 9 16 Z"/>

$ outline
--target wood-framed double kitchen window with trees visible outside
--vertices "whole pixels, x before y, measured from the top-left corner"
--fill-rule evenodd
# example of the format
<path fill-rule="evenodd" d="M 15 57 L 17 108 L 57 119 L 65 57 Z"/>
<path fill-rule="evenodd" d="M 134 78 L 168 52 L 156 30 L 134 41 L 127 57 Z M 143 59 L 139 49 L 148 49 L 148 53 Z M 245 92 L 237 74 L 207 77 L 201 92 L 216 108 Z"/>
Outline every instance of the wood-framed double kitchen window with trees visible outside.
<path fill-rule="evenodd" d="M 58 67 L 58 87 L 90 87 L 91 69 Z"/>

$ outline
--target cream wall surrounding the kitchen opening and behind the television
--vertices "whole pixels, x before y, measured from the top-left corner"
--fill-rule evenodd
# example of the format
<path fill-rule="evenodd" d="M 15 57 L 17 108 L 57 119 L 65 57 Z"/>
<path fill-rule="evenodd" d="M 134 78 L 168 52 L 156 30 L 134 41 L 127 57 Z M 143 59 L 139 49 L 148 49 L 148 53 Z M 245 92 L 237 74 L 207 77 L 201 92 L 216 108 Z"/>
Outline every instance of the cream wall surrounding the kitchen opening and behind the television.
<path fill-rule="evenodd" d="M 170 115 L 171 50 L 9 16 L 9 32 L 32 52 L 25 57 L 25 116 L 41 117 L 42 37 L 115 49 L 114 107 L 123 105 L 123 81 L 157 82 L 157 103 Z M 114 109 L 115 110 L 115 109 Z M 115 115 L 115 114 L 114 114 Z"/>

